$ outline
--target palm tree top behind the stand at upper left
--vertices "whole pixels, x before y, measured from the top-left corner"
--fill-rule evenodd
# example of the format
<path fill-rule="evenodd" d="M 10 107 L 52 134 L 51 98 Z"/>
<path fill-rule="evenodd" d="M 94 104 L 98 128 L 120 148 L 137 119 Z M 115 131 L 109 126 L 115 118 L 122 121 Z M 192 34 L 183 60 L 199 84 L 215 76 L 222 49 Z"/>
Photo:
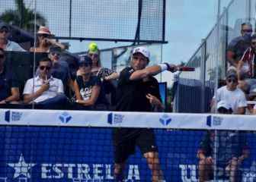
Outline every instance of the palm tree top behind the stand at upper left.
<path fill-rule="evenodd" d="M 15 6 L 15 10 L 7 10 L 0 14 L 0 20 L 17 27 L 21 27 L 23 30 L 34 32 L 34 11 L 25 7 L 24 0 L 15 0 Z M 46 19 L 39 13 L 36 15 L 36 26 L 38 29 L 40 25 L 46 24 Z"/>

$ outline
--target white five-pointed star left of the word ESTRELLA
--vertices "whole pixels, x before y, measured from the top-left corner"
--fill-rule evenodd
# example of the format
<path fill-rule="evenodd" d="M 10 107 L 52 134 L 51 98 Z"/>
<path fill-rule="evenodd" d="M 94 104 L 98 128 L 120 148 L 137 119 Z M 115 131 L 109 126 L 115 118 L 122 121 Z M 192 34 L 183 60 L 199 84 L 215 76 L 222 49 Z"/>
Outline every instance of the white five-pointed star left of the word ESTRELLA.
<path fill-rule="evenodd" d="M 14 178 L 19 177 L 21 175 L 30 178 L 30 168 L 32 168 L 34 165 L 36 164 L 32 164 L 32 163 L 26 163 L 24 160 L 24 157 L 21 153 L 20 159 L 18 161 L 18 163 L 9 163 L 8 166 L 10 166 L 11 168 L 14 168 L 15 172 L 14 172 Z"/>

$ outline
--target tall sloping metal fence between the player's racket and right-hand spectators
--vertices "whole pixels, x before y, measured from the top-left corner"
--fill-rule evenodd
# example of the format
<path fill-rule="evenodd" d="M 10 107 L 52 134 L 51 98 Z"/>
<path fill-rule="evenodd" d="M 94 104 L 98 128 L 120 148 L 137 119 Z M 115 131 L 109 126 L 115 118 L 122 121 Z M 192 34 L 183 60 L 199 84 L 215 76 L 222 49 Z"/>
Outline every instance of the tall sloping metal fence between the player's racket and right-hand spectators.
<path fill-rule="evenodd" d="M 251 22 L 255 26 L 255 1 L 231 1 L 219 17 L 217 24 L 187 62 L 196 71 L 175 76 L 177 90 L 174 111 L 208 112 L 214 89 L 226 75 L 226 48 L 240 35 L 241 24 Z"/>

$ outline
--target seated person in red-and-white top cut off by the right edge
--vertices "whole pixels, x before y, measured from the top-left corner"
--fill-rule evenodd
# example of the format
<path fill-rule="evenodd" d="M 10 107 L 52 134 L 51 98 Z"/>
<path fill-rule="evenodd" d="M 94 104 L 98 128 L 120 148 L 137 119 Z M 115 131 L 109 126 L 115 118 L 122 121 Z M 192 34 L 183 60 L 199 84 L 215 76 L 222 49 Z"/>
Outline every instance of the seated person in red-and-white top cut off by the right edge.
<path fill-rule="evenodd" d="M 255 79 L 255 53 L 256 53 L 256 34 L 251 36 L 251 46 L 245 50 L 244 55 L 238 62 L 237 74 L 239 87 L 248 93 L 250 86 L 256 84 Z"/>

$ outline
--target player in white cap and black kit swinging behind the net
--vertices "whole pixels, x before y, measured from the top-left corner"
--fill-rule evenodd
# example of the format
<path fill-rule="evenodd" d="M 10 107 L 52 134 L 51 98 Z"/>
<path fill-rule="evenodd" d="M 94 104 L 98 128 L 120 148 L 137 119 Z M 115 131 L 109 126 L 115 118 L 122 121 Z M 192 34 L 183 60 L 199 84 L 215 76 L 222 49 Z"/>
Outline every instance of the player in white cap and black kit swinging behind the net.
<path fill-rule="evenodd" d="M 168 63 L 146 67 L 150 53 L 145 47 L 133 49 L 130 67 L 120 72 L 117 85 L 117 111 L 153 111 L 163 108 L 158 81 L 152 75 L 162 71 L 176 71 L 177 67 Z M 139 121 L 136 121 L 139 122 Z M 152 181 L 165 181 L 160 168 L 155 134 L 152 129 L 114 129 L 114 177 L 123 181 L 126 160 L 139 146 L 142 155 L 152 171 Z"/>

